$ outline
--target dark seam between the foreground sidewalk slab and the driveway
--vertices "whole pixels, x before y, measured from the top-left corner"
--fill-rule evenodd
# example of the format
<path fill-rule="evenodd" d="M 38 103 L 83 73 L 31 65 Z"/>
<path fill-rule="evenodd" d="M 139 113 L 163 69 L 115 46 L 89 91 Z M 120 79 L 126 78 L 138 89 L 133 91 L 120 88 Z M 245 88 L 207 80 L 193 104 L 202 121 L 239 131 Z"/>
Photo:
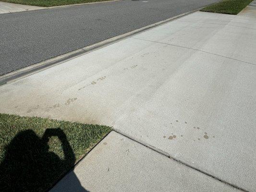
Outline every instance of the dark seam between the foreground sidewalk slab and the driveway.
<path fill-rule="evenodd" d="M 230 182 L 228 182 L 228 181 L 221 180 L 221 179 L 219 179 L 218 177 L 215 177 L 215 176 L 213 176 L 213 175 L 211 175 L 211 174 L 209 174 L 209 173 L 207 173 L 207 172 L 205 172 L 205 171 L 203 171 L 203 170 L 201 170 L 201 169 L 199 169 L 199 168 L 195 168 L 195 167 L 193 167 L 193 166 L 191 166 L 191 165 L 189 165 L 189 164 L 187 164 L 187 163 L 185 163 L 185 162 L 183 162 L 183 161 L 180 161 L 179 159 L 172 157 L 170 154 L 168 154 L 168 153 L 166 153 L 166 152 L 164 152 L 164 151 L 162 151 L 162 150 L 160 150 L 160 149 L 158 149 L 158 148 L 156 148 L 156 147 L 154 147 L 154 146 L 152 146 L 152 145 L 150 145 L 150 144 L 146 144 L 146 143 L 143 142 L 143 141 L 137 140 L 136 138 L 134 138 L 134 137 L 132 137 L 132 136 L 130 136 L 130 135 L 124 133 L 124 132 L 121 132 L 120 130 L 117 130 L 117 129 L 115 129 L 115 128 L 112 128 L 112 129 L 113 129 L 115 132 L 121 134 L 122 136 L 127 137 L 128 139 L 131 139 L 132 141 L 134 141 L 134 142 L 136 142 L 136 143 L 138 143 L 138 144 L 141 144 L 141 145 L 143 145 L 143 146 L 145 146 L 145 147 L 147 147 L 147 148 L 149 148 L 149 149 L 151 149 L 151 150 L 153 150 L 153 151 L 155 151 L 155 152 L 157 152 L 157 153 L 159 153 L 159 154 L 161 154 L 161 155 L 163 155 L 163 156 L 166 156 L 166 157 L 168 157 L 168 158 L 170 158 L 170 159 L 172 159 L 172 160 L 174 160 L 174 161 L 176 161 L 176 162 L 178 162 L 178 163 L 180 163 L 180 164 L 182 164 L 182 165 L 184 165 L 184 166 L 186 166 L 186 167 L 192 168 L 192 169 L 194 169 L 194 170 L 196 170 L 196 171 L 198 171 L 198 172 L 200 172 L 200 173 L 203 173 L 203 174 L 205 174 L 205 175 L 207 175 L 207 176 L 209 176 L 209 177 L 211 177 L 211 178 L 213 178 L 213 179 L 215 179 L 215 180 L 219 180 L 220 182 L 225 183 L 226 185 L 229 185 L 229 186 L 231 186 L 231 187 L 233 187 L 233 188 L 236 188 L 236 189 L 238 189 L 238 190 L 241 190 L 241 191 L 243 191 L 243 192 L 249 192 L 249 191 L 246 191 L 245 189 L 243 189 L 243 188 L 241 188 L 241 187 L 238 187 L 238 186 L 236 186 L 236 185 L 233 185 L 232 183 L 230 183 Z"/>

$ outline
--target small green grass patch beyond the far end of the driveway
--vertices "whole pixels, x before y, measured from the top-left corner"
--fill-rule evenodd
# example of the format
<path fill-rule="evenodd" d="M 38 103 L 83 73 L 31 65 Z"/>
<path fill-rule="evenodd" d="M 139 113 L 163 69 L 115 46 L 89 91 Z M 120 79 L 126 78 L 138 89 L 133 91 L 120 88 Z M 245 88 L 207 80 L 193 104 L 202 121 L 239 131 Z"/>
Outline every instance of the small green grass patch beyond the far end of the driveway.
<path fill-rule="evenodd" d="M 253 0 L 223 0 L 219 3 L 210 5 L 201 11 L 203 12 L 218 12 L 226 14 L 238 14 Z"/>

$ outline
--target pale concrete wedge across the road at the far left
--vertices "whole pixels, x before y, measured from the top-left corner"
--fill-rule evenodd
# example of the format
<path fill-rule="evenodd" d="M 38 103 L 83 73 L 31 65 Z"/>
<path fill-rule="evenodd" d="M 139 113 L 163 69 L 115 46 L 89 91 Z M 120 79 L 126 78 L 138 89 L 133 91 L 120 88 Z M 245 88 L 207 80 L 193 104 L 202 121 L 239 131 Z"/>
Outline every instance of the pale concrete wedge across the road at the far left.
<path fill-rule="evenodd" d="M 31 10 L 44 9 L 44 7 L 21 5 L 15 3 L 1 2 L 0 1 L 0 14 L 11 12 L 24 12 Z"/>

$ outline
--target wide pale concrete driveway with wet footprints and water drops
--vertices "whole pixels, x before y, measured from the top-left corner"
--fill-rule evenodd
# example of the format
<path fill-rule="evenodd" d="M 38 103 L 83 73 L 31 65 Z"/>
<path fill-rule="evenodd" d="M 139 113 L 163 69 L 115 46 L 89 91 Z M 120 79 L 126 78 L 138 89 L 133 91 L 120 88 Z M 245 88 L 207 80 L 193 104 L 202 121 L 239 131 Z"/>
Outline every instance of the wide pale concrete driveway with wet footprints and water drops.
<path fill-rule="evenodd" d="M 195 12 L 1 86 L 0 112 L 110 125 L 255 192 L 255 50 L 255 17 Z"/>

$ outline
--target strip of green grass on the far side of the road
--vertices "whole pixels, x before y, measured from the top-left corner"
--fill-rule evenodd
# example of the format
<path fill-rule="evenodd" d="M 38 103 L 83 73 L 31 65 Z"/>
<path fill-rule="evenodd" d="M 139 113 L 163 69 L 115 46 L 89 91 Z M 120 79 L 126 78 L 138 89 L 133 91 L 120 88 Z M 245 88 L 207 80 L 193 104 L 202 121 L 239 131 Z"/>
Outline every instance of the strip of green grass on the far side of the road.
<path fill-rule="evenodd" d="M 52 6 L 91 3 L 91 2 L 108 1 L 108 0 L 1 0 L 1 1 L 23 4 L 23 5 L 40 6 L 40 7 L 52 7 Z"/>

